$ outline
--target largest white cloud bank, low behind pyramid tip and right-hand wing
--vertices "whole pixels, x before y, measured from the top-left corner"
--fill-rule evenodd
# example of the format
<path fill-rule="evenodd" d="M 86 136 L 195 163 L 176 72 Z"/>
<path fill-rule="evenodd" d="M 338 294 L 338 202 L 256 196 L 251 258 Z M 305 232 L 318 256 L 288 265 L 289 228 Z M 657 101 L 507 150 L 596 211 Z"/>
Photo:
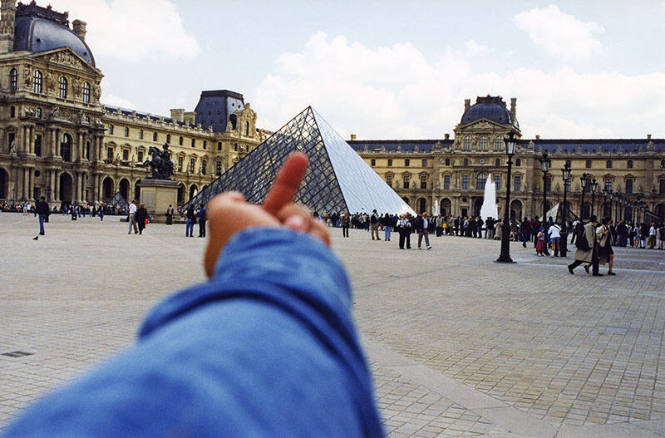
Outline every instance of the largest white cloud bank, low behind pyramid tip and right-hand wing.
<path fill-rule="evenodd" d="M 465 98 L 489 93 L 518 98 L 527 137 L 665 136 L 656 132 L 665 119 L 665 73 L 487 73 L 463 53 L 447 48 L 432 61 L 408 43 L 371 49 L 318 33 L 278 58 L 251 101 L 270 129 L 311 104 L 345 137 L 441 138 L 459 123 Z"/>

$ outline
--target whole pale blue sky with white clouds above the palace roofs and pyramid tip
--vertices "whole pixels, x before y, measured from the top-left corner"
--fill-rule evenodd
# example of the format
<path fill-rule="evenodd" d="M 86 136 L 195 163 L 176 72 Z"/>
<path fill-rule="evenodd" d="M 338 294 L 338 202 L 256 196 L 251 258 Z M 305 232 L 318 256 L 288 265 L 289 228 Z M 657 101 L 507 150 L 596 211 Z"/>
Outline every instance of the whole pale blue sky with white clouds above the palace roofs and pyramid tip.
<path fill-rule="evenodd" d="M 266 129 L 312 105 L 344 136 L 441 138 L 489 93 L 527 137 L 665 137 L 662 0 L 51 3 L 88 22 L 102 100 L 142 111 L 231 89 Z"/>

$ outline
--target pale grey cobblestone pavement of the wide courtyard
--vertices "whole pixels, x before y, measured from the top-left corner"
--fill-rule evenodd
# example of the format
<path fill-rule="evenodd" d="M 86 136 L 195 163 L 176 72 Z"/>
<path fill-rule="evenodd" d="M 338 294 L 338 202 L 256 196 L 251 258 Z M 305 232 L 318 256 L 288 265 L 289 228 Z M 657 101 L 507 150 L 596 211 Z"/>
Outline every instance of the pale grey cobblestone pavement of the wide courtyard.
<path fill-rule="evenodd" d="M 203 280 L 203 239 L 126 227 L 56 216 L 33 241 L 32 216 L 0 214 L 0 425 Z M 340 235 L 390 436 L 665 436 L 665 251 L 615 249 L 618 275 L 591 277 L 517 243 L 503 265 L 495 241 Z"/>

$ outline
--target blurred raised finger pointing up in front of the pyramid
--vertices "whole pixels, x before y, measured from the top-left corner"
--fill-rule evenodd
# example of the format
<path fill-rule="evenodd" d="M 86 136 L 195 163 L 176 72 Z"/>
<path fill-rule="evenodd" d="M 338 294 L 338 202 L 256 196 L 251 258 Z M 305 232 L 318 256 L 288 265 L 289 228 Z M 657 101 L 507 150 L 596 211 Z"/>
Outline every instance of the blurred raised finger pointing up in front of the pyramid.
<path fill-rule="evenodd" d="M 307 156 L 302 152 L 294 152 L 286 158 L 263 201 L 265 211 L 276 216 L 282 207 L 293 202 L 305 177 L 308 162 Z"/>

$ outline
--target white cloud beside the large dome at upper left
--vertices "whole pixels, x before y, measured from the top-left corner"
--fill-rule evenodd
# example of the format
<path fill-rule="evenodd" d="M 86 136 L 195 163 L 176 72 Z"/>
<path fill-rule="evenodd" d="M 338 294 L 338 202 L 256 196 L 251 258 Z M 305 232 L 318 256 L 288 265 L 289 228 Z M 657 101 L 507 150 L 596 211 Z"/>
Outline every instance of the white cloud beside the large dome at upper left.
<path fill-rule="evenodd" d="M 45 0 L 41 0 L 45 6 Z M 129 62 L 177 60 L 198 55 L 196 38 L 188 33 L 170 0 L 51 0 L 69 11 L 70 21 L 88 23 L 86 42 L 95 56 Z"/>

